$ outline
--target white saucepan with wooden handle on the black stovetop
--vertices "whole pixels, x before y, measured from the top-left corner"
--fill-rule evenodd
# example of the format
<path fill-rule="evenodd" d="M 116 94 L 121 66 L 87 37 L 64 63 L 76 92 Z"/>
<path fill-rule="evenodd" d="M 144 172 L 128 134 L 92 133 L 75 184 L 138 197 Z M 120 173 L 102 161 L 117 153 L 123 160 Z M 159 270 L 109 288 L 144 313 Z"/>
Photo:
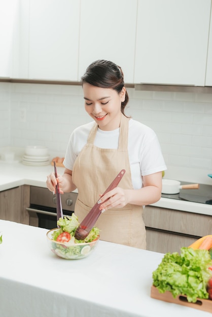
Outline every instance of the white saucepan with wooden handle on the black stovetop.
<path fill-rule="evenodd" d="M 162 193 L 163 194 L 178 194 L 180 189 L 198 189 L 199 184 L 181 185 L 178 180 L 162 179 Z"/>

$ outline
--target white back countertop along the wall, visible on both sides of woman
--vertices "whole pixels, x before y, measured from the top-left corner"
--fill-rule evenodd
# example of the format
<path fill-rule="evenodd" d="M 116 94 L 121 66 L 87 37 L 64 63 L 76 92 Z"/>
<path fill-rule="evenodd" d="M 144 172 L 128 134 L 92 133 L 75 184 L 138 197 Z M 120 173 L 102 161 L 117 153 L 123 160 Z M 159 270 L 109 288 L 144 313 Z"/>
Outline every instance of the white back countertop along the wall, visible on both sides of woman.
<path fill-rule="evenodd" d="M 0 162 L 0 191 L 7 190 L 20 185 L 32 185 L 46 188 L 47 175 L 54 171 L 52 165 L 27 166 L 21 162 L 5 163 Z M 63 174 L 64 168 L 57 167 L 57 173 Z M 77 192 L 77 190 L 75 191 Z M 212 196 L 212 193 L 211 193 Z M 161 197 L 151 206 L 176 209 L 212 216 L 212 205 L 199 204 L 187 201 L 178 201 Z"/>

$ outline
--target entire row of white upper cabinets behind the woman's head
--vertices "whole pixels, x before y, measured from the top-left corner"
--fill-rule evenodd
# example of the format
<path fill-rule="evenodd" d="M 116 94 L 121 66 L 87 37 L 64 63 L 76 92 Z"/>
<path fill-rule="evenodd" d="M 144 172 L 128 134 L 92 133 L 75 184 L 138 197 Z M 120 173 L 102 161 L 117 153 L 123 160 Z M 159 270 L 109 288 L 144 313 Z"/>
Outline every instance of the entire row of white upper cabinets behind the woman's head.
<path fill-rule="evenodd" d="M 0 77 L 76 82 L 106 59 L 125 83 L 212 86 L 211 2 L 0 0 Z"/>

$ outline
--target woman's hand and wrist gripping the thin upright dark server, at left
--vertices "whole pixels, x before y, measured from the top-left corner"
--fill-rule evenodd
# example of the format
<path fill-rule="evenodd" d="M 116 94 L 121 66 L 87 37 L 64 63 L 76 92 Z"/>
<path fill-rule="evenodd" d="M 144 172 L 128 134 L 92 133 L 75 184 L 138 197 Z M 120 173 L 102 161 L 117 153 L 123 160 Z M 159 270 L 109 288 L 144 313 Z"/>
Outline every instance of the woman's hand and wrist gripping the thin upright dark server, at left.
<path fill-rule="evenodd" d="M 77 188 L 77 186 L 72 181 L 72 171 L 65 169 L 63 175 L 57 175 L 57 179 L 55 174 L 52 172 L 50 175 L 47 176 L 47 188 L 50 191 L 55 192 L 55 186 L 57 183 L 59 184 L 60 193 L 63 194 L 64 192 L 70 192 Z"/>

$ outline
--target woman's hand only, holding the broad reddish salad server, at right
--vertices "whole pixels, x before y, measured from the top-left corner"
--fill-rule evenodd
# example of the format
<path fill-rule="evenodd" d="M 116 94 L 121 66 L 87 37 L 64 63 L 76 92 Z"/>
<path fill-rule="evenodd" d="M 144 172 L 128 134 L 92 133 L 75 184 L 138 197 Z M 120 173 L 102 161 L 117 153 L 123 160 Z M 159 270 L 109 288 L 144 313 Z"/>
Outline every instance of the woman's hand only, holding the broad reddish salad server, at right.
<path fill-rule="evenodd" d="M 116 187 L 101 196 L 98 203 L 102 212 L 111 208 L 122 208 L 128 204 L 126 190 Z"/>

